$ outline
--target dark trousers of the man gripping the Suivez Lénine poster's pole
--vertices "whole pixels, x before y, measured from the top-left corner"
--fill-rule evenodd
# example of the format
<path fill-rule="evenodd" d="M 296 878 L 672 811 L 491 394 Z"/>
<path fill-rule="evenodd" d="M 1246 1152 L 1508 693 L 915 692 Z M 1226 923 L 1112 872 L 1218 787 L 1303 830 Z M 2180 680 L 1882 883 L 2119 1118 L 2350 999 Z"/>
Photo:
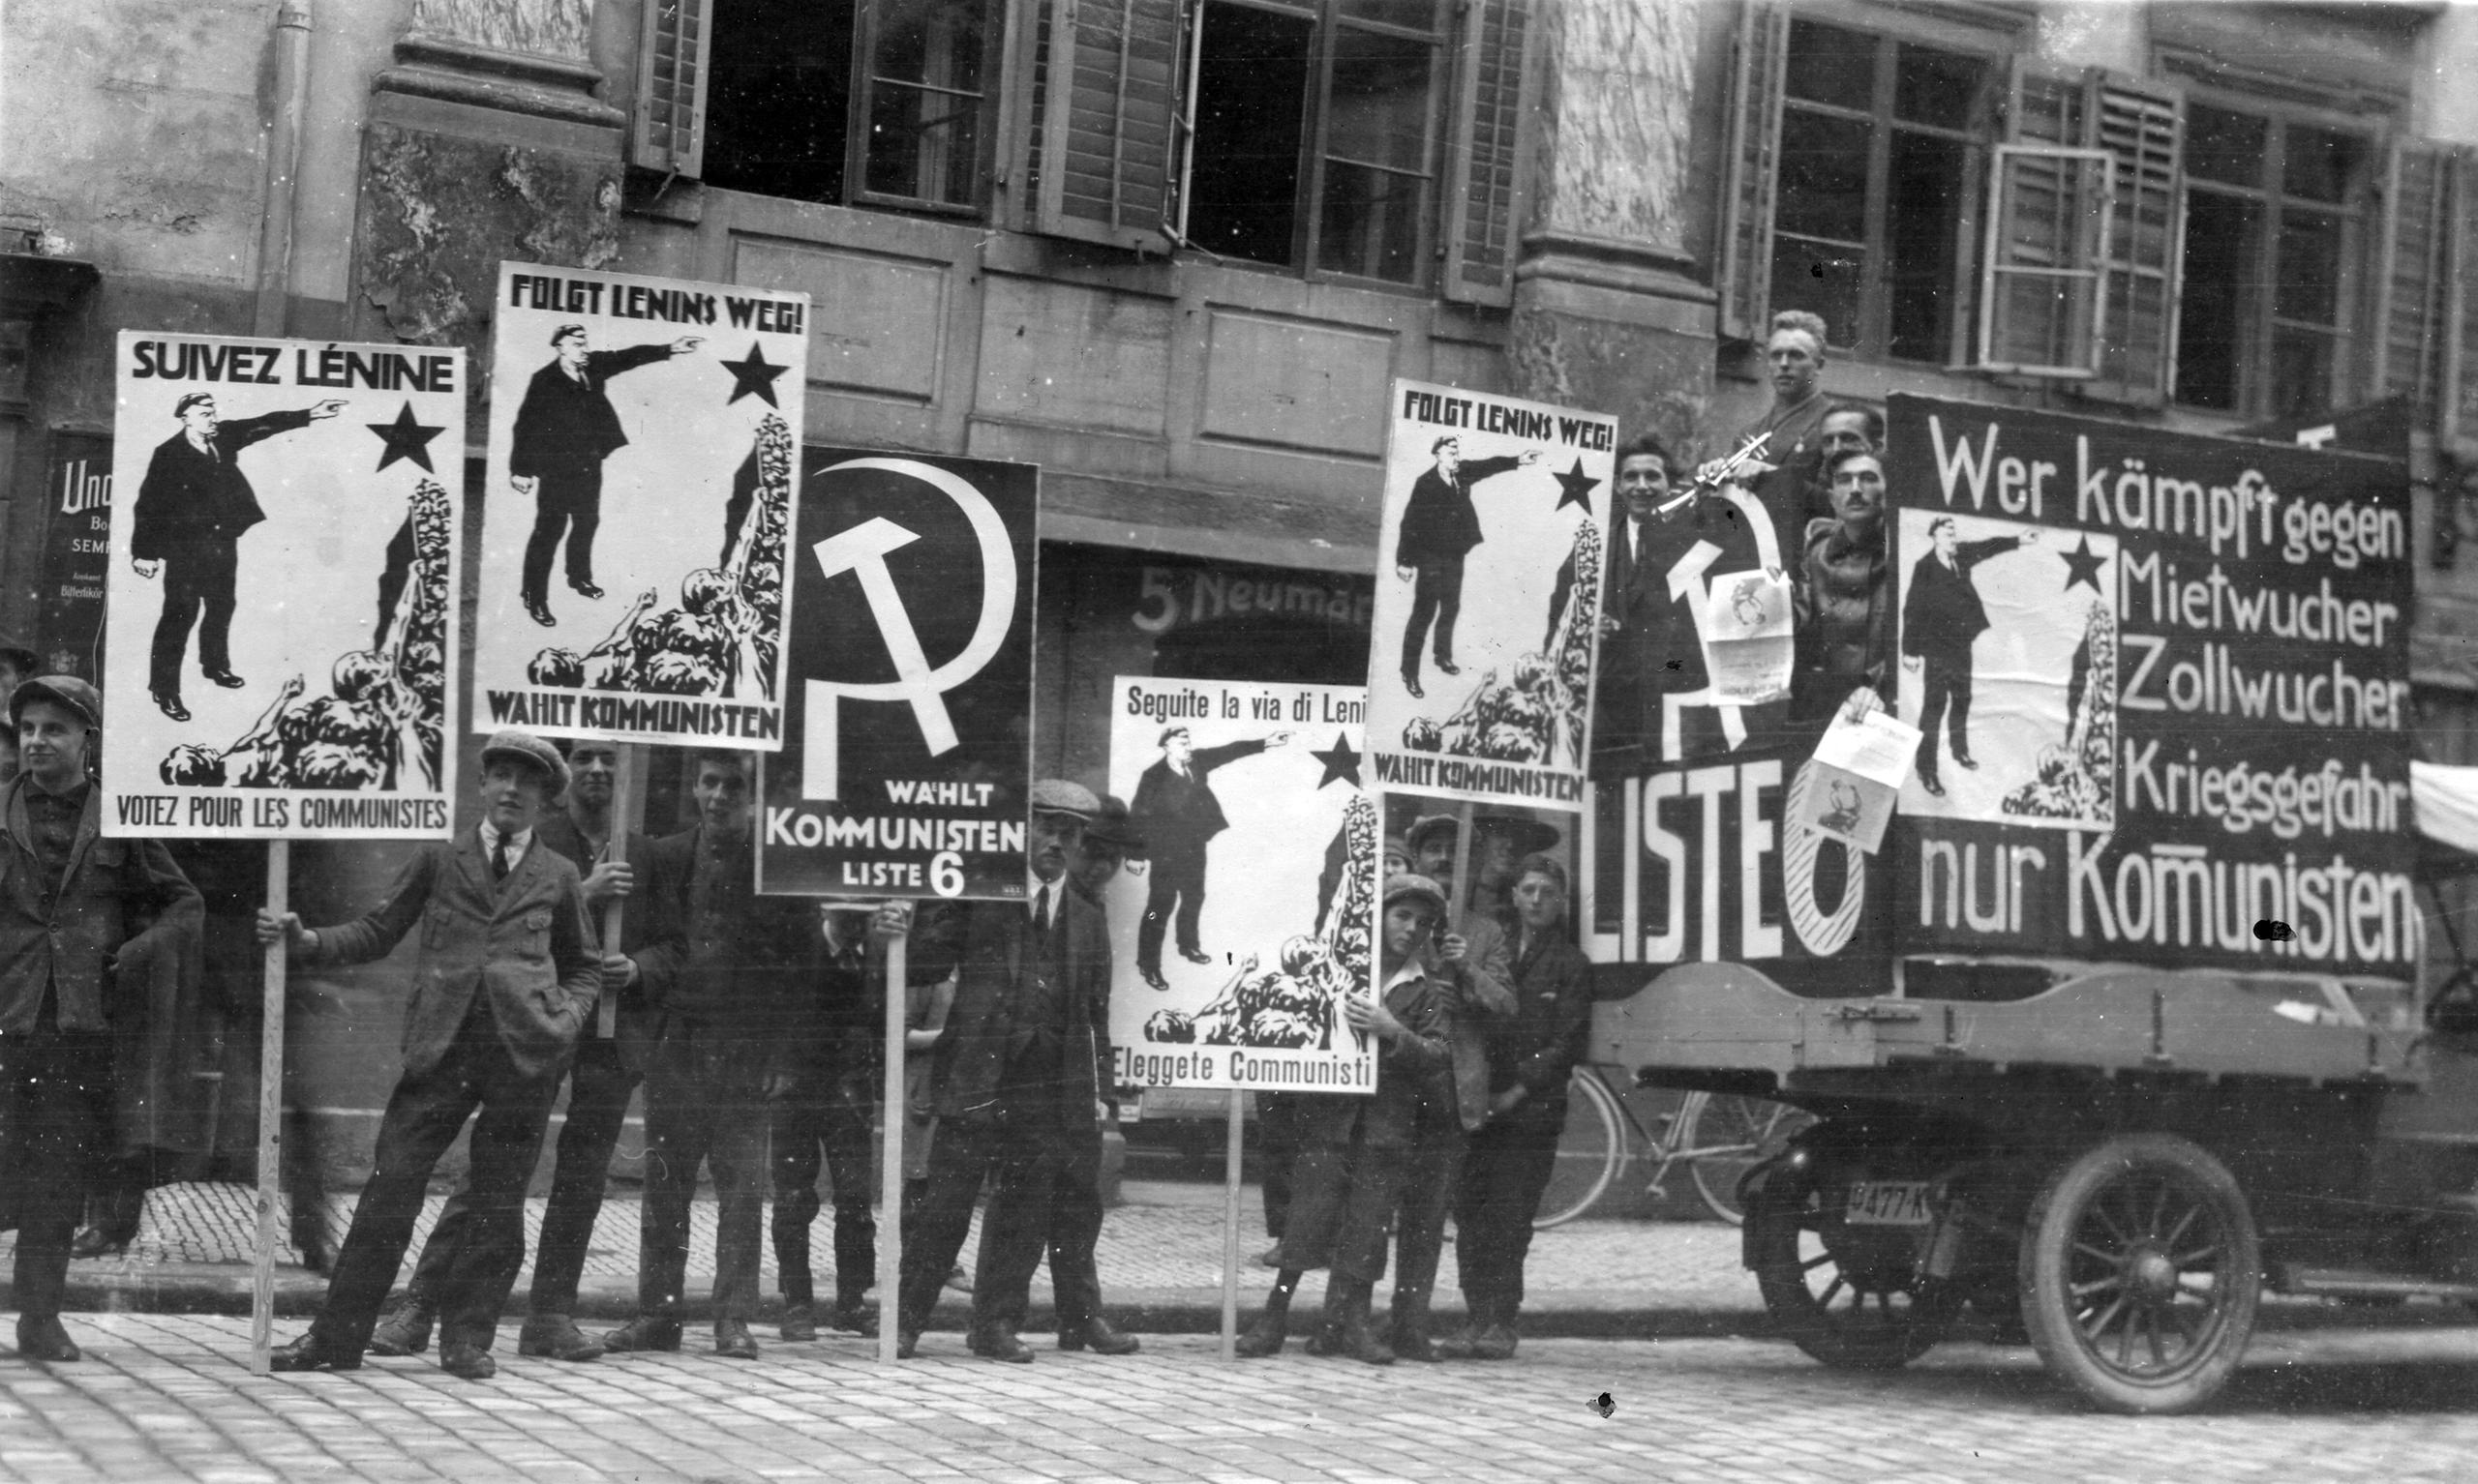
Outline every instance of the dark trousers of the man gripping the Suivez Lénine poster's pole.
<path fill-rule="evenodd" d="M 508 1060 L 476 996 L 439 1065 L 406 1073 L 379 1117 L 379 1150 L 369 1184 L 352 1209 L 352 1229 L 335 1259 L 327 1303 L 310 1325 L 320 1345 L 359 1355 L 379 1323 L 379 1306 L 396 1281 L 431 1169 L 466 1117 L 473 1120 L 466 1219 L 436 1288 L 441 1343 L 491 1348 L 498 1311 L 525 1266 L 525 1182 L 543 1152 L 550 1102 L 560 1078 L 525 1075 Z"/>

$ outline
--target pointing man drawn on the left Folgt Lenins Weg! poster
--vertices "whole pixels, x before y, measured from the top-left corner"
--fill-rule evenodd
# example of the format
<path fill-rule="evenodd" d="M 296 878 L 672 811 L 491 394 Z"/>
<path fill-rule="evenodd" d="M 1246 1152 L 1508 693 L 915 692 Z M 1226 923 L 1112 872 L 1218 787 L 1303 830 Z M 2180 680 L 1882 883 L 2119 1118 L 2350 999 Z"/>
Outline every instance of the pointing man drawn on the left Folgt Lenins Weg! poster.
<path fill-rule="evenodd" d="M 550 552 L 567 535 L 567 587 L 602 597 L 595 587 L 595 528 L 602 523 L 602 461 L 627 448 L 627 431 L 612 406 L 610 379 L 637 367 L 684 357 L 704 344 L 681 334 L 669 344 L 590 349 L 582 325 L 550 332 L 553 359 L 525 384 L 508 448 L 508 483 L 533 495 L 533 535 L 525 540 L 525 612 L 550 627 Z"/>

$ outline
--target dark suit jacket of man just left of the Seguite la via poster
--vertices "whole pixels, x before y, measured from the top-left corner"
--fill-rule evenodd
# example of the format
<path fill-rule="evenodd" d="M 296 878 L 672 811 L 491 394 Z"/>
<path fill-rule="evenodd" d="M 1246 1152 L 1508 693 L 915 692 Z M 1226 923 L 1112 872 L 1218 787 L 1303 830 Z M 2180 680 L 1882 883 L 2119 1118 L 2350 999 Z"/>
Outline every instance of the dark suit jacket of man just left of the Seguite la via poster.
<path fill-rule="evenodd" d="M 1103 914 L 1075 892 L 1061 892 L 1051 927 L 1051 971 L 1061 976 L 1063 1008 L 1061 1117 L 1090 1117 L 1110 1085 L 1110 934 Z M 939 1117 L 986 1117 L 1006 1083 L 1009 1038 L 1026 998 L 1031 907 L 1021 902 L 944 902 L 922 914 L 912 934 L 912 984 L 957 976 L 954 1008 L 937 1043 L 932 1102 Z"/>

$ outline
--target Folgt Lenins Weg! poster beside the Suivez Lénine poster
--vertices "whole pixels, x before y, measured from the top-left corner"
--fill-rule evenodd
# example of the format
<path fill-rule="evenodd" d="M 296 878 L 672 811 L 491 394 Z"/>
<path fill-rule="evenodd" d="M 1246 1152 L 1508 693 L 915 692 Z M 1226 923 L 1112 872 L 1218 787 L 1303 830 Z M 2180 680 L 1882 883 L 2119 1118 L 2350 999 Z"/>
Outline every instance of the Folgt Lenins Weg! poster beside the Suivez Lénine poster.
<path fill-rule="evenodd" d="M 473 728 L 776 751 L 808 295 L 503 263 Z"/>

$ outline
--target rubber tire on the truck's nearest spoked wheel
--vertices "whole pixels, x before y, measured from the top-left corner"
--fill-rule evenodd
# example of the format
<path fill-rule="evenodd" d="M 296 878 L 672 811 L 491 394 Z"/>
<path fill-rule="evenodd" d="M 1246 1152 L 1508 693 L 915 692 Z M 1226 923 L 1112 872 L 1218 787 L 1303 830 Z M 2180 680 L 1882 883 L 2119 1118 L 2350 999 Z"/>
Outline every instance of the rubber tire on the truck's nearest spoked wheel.
<path fill-rule="evenodd" d="M 2082 1214 L 2129 1177 L 2163 1174 L 2205 1204 L 2225 1229 L 2228 1303 L 2215 1313 L 2198 1353 L 2158 1380 L 2136 1377 L 2104 1360 L 2074 1320 L 2072 1254 Z M 2129 1415 L 2193 1412 L 2210 1402 L 2255 1330 L 2262 1301 L 2262 1249 L 2238 1177 L 2208 1150 L 2176 1135 L 2109 1140 L 2062 1164 L 2032 1199 L 2022 1226 L 2022 1320 L 2039 1363 L 2091 1405 Z"/>

